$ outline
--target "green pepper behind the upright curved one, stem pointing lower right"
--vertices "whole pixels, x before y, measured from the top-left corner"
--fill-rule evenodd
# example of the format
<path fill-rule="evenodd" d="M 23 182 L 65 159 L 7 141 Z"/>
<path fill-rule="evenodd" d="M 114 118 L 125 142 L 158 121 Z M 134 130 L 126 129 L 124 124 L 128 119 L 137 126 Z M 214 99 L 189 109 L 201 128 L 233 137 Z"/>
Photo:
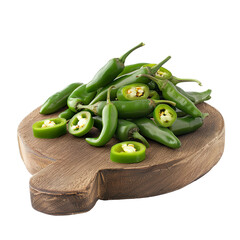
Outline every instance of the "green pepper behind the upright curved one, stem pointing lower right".
<path fill-rule="evenodd" d="M 93 119 L 94 119 L 94 126 L 99 130 L 102 130 L 102 118 L 99 116 L 95 116 L 93 117 Z M 115 137 L 120 141 L 138 139 L 147 148 L 149 147 L 149 143 L 147 142 L 147 140 L 139 133 L 138 126 L 135 123 L 124 120 L 124 119 L 118 119 Z"/>

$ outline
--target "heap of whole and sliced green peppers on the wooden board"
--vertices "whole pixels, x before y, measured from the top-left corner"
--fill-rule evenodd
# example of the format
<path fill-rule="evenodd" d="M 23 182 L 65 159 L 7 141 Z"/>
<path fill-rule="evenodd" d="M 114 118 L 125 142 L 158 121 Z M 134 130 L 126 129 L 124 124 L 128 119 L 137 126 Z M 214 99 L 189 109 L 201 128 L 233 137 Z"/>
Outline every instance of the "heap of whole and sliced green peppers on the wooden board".
<path fill-rule="evenodd" d="M 87 84 L 73 83 L 52 95 L 42 105 L 40 113 L 52 114 L 65 108 L 58 118 L 66 120 L 68 132 L 76 137 L 83 137 L 93 127 L 98 128 L 98 137 L 85 139 L 95 147 L 106 145 L 113 137 L 131 144 L 136 141 L 136 149 L 141 151 L 124 155 L 121 147 L 116 146 L 113 151 L 120 153 L 111 153 L 113 161 L 142 161 L 145 157 L 139 154 L 149 147 L 147 139 L 172 149 L 179 148 L 178 136 L 196 131 L 208 116 L 198 109 L 197 104 L 209 100 L 211 90 L 189 92 L 177 86 L 182 82 L 199 85 L 201 82 L 173 76 L 163 67 L 170 56 L 158 64 L 125 66 L 128 55 L 142 46 L 144 44 L 140 43 L 122 57 L 110 59 Z M 52 133 L 58 131 L 58 122 L 62 123 L 55 122 L 54 128 L 47 126 L 43 129 L 42 122 L 38 123 L 35 130 L 38 134 L 34 136 L 46 137 L 48 131 L 46 138 L 61 136 L 63 131 L 62 134 Z M 41 131 L 44 134 L 41 135 Z"/>

